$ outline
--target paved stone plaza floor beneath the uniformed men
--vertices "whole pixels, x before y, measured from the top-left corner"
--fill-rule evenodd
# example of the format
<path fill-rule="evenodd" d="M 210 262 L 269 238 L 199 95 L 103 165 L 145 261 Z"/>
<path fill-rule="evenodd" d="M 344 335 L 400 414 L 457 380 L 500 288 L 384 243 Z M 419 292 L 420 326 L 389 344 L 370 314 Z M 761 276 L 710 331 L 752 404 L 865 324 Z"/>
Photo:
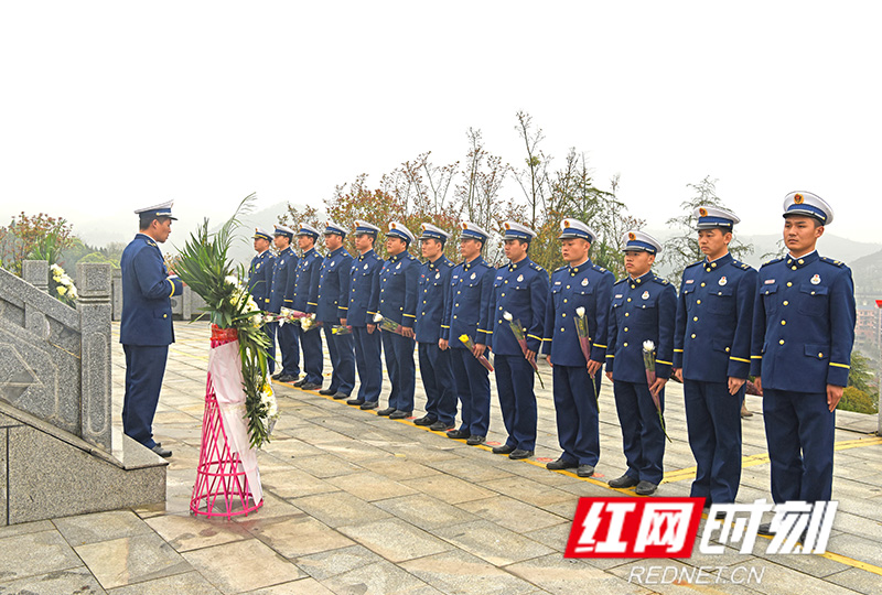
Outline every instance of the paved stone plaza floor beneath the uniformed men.
<path fill-rule="evenodd" d="M 114 332 L 118 337 L 118 323 Z M 537 383 L 534 461 L 509 461 L 490 446 L 466 446 L 409 421 L 277 385 L 282 418 L 259 455 L 263 507 L 234 521 L 194 518 L 189 506 L 209 333 L 205 323 L 179 322 L 175 334 L 154 423 L 157 440 L 174 451 L 165 505 L 0 528 L 0 593 L 836 595 L 882 588 L 882 441 L 873 434 L 875 418 L 842 412 L 833 482 L 840 504 L 826 555 L 746 555 L 727 548 L 723 555 L 686 560 L 564 560 L 578 498 L 633 491 L 605 485 L 625 464 L 609 382 L 601 393 L 595 477 L 544 468 L 560 452 L 547 367 L 546 389 Z M 115 347 L 119 408 L 125 359 Z M 419 405 L 424 398 L 419 381 L 417 387 Z M 678 385 L 669 387 L 666 421 L 674 442 L 657 496 L 688 496 L 693 459 L 682 393 Z M 388 381 L 384 388 L 381 405 Z M 743 422 L 741 502 L 770 498 L 761 400 L 747 402 L 756 413 Z M 501 430 L 494 392 L 491 445 L 504 440 Z M 754 551 L 765 544 L 760 538 Z M 628 582 L 634 567 L 652 565 L 743 566 L 763 575 L 759 584 Z"/>

